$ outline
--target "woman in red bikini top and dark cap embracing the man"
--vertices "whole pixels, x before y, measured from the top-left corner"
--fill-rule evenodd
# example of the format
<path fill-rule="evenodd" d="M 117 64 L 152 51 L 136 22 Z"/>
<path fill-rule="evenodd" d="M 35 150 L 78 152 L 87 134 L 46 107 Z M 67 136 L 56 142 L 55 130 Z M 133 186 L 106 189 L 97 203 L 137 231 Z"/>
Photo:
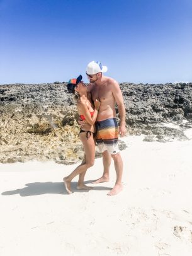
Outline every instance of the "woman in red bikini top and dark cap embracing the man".
<path fill-rule="evenodd" d="M 101 103 L 98 99 L 96 99 L 93 106 L 93 104 L 91 104 L 91 102 L 88 100 L 87 86 L 83 83 L 81 75 L 78 76 L 77 79 L 70 79 L 69 83 L 67 84 L 67 89 L 69 93 L 76 93 L 79 115 L 81 119 L 86 122 L 83 129 L 81 128 L 79 132 L 79 137 L 84 147 L 84 159 L 82 160 L 81 165 L 77 166 L 77 168 L 69 176 L 64 177 L 63 179 L 67 192 L 71 194 L 71 181 L 77 175 L 79 175 L 77 189 L 91 189 L 91 187 L 84 185 L 84 176 L 86 174 L 86 170 L 94 164 L 94 135 L 96 132 L 94 123 L 96 122 Z"/>

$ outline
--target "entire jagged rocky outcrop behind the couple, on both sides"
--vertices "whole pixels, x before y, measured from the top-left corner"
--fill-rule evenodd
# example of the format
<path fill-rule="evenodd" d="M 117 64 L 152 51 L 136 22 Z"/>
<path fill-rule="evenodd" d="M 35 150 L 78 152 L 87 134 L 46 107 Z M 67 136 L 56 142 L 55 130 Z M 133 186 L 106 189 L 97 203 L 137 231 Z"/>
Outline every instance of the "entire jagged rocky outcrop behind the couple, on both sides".
<path fill-rule="evenodd" d="M 145 134 L 145 141 L 187 139 L 183 129 L 192 127 L 191 83 L 121 83 L 120 87 L 128 134 Z M 118 117 L 118 108 L 116 114 Z M 78 117 L 76 102 L 65 83 L 1 85 L 0 162 L 80 161 L 83 150 Z M 176 122 L 181 129 L 162 125 L 166 122 Z M 124 147 L 121 142 L 120 148 Z"/>

